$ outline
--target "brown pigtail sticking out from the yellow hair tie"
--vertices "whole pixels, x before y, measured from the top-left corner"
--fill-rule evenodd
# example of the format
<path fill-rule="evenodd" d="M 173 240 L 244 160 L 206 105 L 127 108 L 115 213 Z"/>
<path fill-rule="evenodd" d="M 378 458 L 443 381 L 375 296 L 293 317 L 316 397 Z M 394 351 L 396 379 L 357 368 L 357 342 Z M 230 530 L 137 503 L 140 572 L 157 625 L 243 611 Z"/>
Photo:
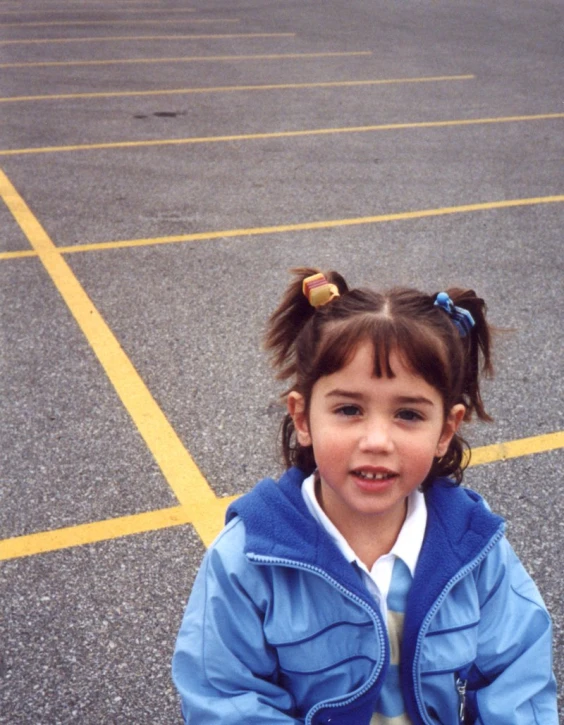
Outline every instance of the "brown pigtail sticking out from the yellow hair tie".
<path fill-rule="evenodd" d="M 272 365 L 278 371 L 277 378 L 286 380 L 296 373 L 296 339 L 316 312 L 303 294 L 306 277 L 318 274 L 319 270 L 298 267 L 291 270 L 294 275 L 286 294 L 272 313 L 265 336 L 265 348 L 272 354 Z M 328 282 L 335 284 L 340 294 L 348 291 L 347 283 L 338 272 L 325 272 Z"/>

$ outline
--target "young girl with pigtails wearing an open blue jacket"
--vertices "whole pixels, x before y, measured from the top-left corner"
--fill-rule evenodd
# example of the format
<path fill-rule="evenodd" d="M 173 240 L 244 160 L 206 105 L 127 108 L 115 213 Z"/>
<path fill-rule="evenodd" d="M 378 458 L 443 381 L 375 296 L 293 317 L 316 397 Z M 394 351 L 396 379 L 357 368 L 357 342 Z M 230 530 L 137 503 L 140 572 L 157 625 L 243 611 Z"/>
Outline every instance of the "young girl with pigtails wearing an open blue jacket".
<path fill-rule="evenodd" d="M 557 725 L 551 624 L 502 519 L 459 488 L 489 417 L 483 300 L 295 270 L 267 348 L 288 470 L 227 512 L 178 636 L 194 725 Z"/>

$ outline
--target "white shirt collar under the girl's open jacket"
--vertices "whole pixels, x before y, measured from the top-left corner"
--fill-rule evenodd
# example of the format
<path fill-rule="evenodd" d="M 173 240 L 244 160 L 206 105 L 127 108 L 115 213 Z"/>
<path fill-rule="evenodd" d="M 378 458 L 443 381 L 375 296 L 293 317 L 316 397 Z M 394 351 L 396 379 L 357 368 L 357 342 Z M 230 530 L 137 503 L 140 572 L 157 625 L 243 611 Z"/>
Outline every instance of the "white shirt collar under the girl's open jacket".
<path fill-rule="evenodd" d="M 374 562 L 370 570 L 364 562 L 360 561 L 348 541 L 319 505 L 319 501 L 315 495 L 315 473 L 303 482 L 302 496 L 313 518 L 329 534 L 345 559 L 351 564 L 355 563 L 358 566 L 362 572 L 368 591 L 378 602 L 384 622 L 387 622 L 388 607 L 386 600 L 390 590 L 394 561 L 396 557 L 401 559 L 413 577 L 423 545 L 425 527 L 427 525 L 427 506 L 425 504 L 425 497 L 421 491 L 413 491 L 408 496 L 407 515 L 395 544 L 388 554 L 384 554 Z"/>

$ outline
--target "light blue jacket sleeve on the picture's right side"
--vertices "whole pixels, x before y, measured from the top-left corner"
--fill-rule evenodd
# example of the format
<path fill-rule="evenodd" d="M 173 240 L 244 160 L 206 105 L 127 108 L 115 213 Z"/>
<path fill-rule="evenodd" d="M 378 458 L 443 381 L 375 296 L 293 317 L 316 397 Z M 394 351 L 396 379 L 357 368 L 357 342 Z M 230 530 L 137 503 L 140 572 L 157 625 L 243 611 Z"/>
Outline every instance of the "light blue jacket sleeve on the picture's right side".
<path fill-rule="evenodd" d="M 480 568 L 477 584 L 481 618 L 470 722 L 558 725 L 550 617 L 505 538 Z M 473 692 L 472 677 L 479 683 Z"/>

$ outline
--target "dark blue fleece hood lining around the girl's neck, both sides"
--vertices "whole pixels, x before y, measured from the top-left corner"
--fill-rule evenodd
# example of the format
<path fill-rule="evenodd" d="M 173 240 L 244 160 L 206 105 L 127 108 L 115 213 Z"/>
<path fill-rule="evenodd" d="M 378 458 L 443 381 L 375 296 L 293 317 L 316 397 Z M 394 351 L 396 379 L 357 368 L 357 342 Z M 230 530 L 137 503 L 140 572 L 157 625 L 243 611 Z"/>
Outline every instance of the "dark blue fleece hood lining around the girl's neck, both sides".
<path fill-rule="evenodd" d="M 266 478 L 227 510 L 226 521 L 240 516 L 245 524 L 246 554 L 292 559 L 321 567 L 347 586 L 359 578 L 353 567 L 343 565 L 337 547 L 313 519 L 302 497 L 303 471 L 290 468 L 277 482 Z M 462 567 L 471 563 L 487 543 L 503 531 L 503 519 L 491 513 L 481 496 L 436 479 L 426 491 L 427 531 L 415 572 L 418 596 L 411 614 L 422 616 L 444 586 Z M 366 596 L 364 597 L 366 598 Z"/>

